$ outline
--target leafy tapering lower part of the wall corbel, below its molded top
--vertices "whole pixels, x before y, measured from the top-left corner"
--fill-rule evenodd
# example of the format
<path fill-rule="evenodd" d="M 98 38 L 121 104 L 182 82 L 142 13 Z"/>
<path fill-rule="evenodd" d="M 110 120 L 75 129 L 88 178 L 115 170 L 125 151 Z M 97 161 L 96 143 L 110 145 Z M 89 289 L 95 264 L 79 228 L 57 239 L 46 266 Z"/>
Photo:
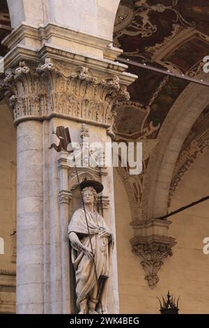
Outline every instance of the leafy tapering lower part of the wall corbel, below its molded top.
<path fill-rule="evenodd" d="M 135 255 L 140 256 L 141 267 L 144 269 L 146 276 L 145 279 L 148 282 L 148 286 L 153 290 L 160 278 L 157 276 L 158 271 L 162 267 L 163 261 L 172 256 L 171 247 L 172 244 L 161 244 L 153 242 L 151 244 L 138 244 L 132 246 L 132 252 Z"/>

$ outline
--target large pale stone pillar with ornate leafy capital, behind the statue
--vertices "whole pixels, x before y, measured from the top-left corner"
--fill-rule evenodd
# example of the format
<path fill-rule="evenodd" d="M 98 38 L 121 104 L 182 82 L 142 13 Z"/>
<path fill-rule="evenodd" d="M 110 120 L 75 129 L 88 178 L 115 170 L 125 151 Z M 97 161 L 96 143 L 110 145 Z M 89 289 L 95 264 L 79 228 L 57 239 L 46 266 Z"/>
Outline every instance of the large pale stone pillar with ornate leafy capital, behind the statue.
<path fill-rule="evenodd" d="M 108 56 L 99 59 L 61 50 L 45 43 L 51 27 L 42 29 L 43 33 L 37 35 L 35 29 L 31 31 L 31 38 L 42 38 L 37 51 L 28 44 L 28 33 L 24 47 L 17 43 L 22 35 L 19 30 L 17 38 L 10 36 L 8 45 L 13 49 L 5 61 L 8 70 L 0 81 L 0 91 L 10 103 L 17 137 L 21 138 L 17 141 L 17 311 L 70 313 L 69 170 L 63 157 L 49 150 L 50 135 L 56 126 L 65 126 L 77 142 L 84 123 L 89 128 L 90 142 L 111 141 L 114 105 L 128 99 L 126 86 L 136 76 L 125 73 L 127 66 L 113 61 L 116 49 L 109 47 Z M 83 43 L 82 36 L 78 45 L 81 40 Z M 98 38 L 85 40 L 86 44 L 95 42 L 95 49 L 101 47 L 102 54 L 106 52 L 106 41 L 98 45 Z M 80 171 L 82 176 L 95 177 L 104 184 L 104 220 L 115 231 L 112 168 L 91 173 Z M 111 313 L 118 313 L 116 248 L 113 269 L 109 306 Z"/>

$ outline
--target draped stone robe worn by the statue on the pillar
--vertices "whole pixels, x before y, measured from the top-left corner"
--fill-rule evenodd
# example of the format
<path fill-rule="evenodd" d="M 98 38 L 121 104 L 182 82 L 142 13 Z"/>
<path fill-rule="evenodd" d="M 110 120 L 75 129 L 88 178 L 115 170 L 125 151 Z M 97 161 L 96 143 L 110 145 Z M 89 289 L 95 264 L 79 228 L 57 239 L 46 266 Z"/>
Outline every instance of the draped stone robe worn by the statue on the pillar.
<path fill-rule="evenodd" d="M 111 237 L 100 237 L 99 228 L 109 230 L 104 222 L 104 218 L 102 218 L 100 214 L 94 212 L 92 216 L 90 212 L 86 211 L 86 216 L 88 228 L 84 209 L 75 211 L 68 226 L 68 234 L 70 234 L 70 232 L 75 232 L 82 244 L 90 249 L 92 244 L 98 278 L 108 278 L 111 272 L 113 239 Z M 91 244 L 88 236 L 88 229 L 91 237 Z M 80 251 L 75 244 L 71 244 L 71 246 L 72 263 L 75 267 L 77 306 L 79 307 L 79 303 L 88 298 L 88 293 L 91 292 L 97 281 L 93 260 Z M 107 289 L 107 284 L 104 285 L 101 291 L 101 293 L 106 295 L 107 290 L 104 289 Z M 102 295 L 100 295 L 100 297 L 102 299 Z"/>

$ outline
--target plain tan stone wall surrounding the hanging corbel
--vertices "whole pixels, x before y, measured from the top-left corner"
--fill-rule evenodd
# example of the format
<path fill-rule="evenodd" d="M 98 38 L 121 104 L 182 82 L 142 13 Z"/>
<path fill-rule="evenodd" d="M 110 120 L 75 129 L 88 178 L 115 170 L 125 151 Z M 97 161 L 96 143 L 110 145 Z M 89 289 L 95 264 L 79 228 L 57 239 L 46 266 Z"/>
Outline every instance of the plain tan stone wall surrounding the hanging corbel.
<path fill-rule="evenodd" d="M 185 173 L 173 195 L 170 211 L 208 195 L 208 161 L 207 150 Z M 131 253 L 130 207 L 116 170 L 114 184 L 120 312 L 159 313 L 156 297 L 166 296 L 169 290 L 176 297 L 180 295 L 179 313 L 208 313 L 209 255 L 203 254 L 203 239 L 209 237 L 208 202 L 173 216 L 169 235 L 175 237 L 178 244 L 158 273 L 157 287 L 149 290 L 140 259 Z"/>

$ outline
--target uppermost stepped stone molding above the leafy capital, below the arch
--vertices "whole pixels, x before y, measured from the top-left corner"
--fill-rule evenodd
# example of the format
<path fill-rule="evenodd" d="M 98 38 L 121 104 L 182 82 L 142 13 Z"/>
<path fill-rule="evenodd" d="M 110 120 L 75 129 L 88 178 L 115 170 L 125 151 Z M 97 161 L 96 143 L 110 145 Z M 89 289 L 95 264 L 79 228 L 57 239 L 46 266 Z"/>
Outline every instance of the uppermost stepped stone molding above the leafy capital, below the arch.
<path fill-rule="evenodd" d="M 107 39 L 80 31 L 78 33 L 78 31 L 53 23 L 48 23 L 45 26 L 41 25 L 37 28 L 22 22 L 22 24 L 13 29 L 13 31 L 4 38 L 2 43 L 9 49 L 12 49 L 18 44 L 26 46 L 33 45 L 36 51 L 39 51 L 45 43 L 61 46 L 63 46 L 64 43 L 65 47 L 68 47 L 71 51 L 88 47 L 88 54 L 113 60 L 123 52 L 121 49 L 112 47 Z"/>

